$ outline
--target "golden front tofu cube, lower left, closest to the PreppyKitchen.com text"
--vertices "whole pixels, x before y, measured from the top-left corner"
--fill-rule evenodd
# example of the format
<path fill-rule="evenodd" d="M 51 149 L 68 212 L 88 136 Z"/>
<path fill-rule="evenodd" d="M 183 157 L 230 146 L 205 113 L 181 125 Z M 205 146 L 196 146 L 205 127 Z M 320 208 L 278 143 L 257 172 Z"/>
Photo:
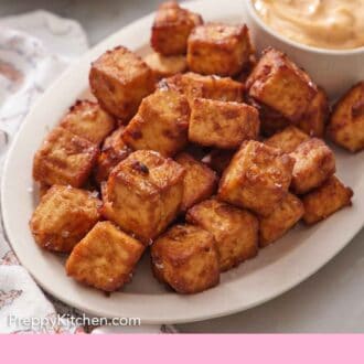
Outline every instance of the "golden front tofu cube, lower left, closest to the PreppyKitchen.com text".
<path fill-rule="evenodd" d="M 75 246 L 66 272 L 81 283 L 113 292 L 131 280 L 146 247 L 110 222 L 99 222 Z"/>

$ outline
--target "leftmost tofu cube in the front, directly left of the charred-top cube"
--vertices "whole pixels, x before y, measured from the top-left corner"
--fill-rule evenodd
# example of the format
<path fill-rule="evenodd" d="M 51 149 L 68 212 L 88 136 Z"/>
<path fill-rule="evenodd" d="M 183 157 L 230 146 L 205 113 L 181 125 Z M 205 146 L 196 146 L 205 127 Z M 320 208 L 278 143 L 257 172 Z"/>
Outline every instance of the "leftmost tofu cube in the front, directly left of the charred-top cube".
<path fill-rule="evenodd" d="M 69 253 L 99 220 L 100 205 L 88 191 L 53 185 L 30 221 L 35 242 L 44 249 Z"/>

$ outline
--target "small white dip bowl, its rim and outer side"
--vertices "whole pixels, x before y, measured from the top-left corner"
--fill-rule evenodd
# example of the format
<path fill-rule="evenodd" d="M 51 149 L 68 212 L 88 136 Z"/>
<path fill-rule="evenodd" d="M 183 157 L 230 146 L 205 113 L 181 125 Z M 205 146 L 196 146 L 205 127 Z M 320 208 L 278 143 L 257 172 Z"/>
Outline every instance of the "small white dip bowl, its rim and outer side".
<path fill-rule="evenodd" d="M 267 46 L 283 51 L 334 99 L 364 79 L 364 46 L 353 50 L 328 50 L 293 42 L 277 33 L 257 14 L 253 1 L 245 0 L 247 25 L 257 51 Z"/>

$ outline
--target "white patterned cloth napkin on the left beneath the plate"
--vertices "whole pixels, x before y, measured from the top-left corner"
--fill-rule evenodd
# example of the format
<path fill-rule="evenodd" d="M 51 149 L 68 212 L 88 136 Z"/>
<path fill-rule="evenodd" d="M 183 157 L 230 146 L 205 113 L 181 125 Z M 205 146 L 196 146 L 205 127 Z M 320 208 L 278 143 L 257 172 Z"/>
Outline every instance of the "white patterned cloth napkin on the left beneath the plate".
<path fill-rule="evenodd" d="M 0 19 L 0 169 L 8 144 L 31 105 L 87 47 L 85 32 L 77 22 L 45 11 Z M 90 331 L 71 320 L 81 315 L 45 296 L 19 264 L 0 226 L 0 333 Z M 104 326 L 93 333 L 130 331 Z M 173 332 L 173 328 L 151 325 L 133 332 Z"/>

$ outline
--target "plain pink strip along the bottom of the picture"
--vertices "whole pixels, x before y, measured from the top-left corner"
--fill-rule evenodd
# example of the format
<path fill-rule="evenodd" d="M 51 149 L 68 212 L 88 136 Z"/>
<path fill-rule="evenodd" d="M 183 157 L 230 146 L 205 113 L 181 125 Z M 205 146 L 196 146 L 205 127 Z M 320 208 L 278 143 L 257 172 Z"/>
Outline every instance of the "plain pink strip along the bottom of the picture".
<path fill-rule="evenodd" d="M 0 335 L 0 362 L 363 363 L 364 335 Z"/>

